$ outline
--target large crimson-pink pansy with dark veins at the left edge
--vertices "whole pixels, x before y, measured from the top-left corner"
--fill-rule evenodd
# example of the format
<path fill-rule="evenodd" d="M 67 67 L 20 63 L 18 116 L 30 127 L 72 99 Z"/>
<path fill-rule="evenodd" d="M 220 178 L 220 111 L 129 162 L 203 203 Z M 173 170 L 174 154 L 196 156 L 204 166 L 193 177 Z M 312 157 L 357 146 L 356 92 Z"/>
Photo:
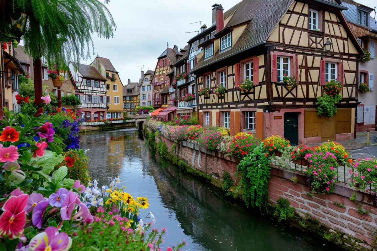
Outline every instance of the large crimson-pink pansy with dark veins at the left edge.
<path fill-rule="evenodd" d="M 0 216 L 0 237 L 9 239 L 18 237 L 23 232 L 26 223 L 25 208 L 29 195 L 11 196 L 4 204 Z"/>

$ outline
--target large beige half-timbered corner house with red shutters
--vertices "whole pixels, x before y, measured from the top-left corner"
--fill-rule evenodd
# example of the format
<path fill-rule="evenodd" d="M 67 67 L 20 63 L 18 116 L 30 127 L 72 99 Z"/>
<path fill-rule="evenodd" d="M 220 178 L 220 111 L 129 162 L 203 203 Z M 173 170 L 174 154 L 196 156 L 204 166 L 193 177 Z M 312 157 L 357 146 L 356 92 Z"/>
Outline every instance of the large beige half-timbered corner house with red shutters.
<path fill-rule="evenodd" d="M 243 0 L 225 13 L 214 5 L 216 30 L 200 38 L 204 50 L 192 72 L 198 90 L 226 90 L 198 97 L 199 121 L 230 128 L 231 135 L 281 135 L 293 145 L 353 137 L 363 50 L 343 9 L 338 0 Z M 325 52 L 328 40 L 332 47 Z M 286 87 L 284 75 L 295 76 L 298 85 Z M 254 88 L 240 91 L 245 79 Z M 336 79 L 343 85 L 337 114 L 318 116 L 317 97 Z"/>

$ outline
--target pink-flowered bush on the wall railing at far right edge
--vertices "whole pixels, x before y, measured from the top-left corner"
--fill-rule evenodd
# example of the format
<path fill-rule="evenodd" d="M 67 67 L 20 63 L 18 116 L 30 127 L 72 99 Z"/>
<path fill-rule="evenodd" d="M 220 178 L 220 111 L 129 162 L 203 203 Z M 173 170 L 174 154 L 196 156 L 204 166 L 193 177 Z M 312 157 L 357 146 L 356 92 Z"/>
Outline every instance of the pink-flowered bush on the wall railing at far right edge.
<path fill-rule="evenodd" d="M 365 158 L 363 160 L 349 160 L 348 166 L 352 168 L 349 173 L 352 175 L 350 186 L 368 192 L 377 192 L 377 160 L 375 158 Z M 372 188 L 372 189 L 371 189 Z"/>

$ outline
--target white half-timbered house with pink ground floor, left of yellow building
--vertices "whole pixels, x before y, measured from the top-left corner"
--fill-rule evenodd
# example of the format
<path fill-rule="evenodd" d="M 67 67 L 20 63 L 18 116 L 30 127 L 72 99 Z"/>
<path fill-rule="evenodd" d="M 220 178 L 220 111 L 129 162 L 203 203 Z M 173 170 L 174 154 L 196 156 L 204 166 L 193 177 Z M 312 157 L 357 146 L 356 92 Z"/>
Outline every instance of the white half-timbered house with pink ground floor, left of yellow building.
<path fill-rule="evenodd" d="M 106 78 L 91 65 L 70 64 L 77 86 L 77 95 L 81 105 L 78 107 L 83 112 L 83 120 L 102 120 L 106 118 Z"/>

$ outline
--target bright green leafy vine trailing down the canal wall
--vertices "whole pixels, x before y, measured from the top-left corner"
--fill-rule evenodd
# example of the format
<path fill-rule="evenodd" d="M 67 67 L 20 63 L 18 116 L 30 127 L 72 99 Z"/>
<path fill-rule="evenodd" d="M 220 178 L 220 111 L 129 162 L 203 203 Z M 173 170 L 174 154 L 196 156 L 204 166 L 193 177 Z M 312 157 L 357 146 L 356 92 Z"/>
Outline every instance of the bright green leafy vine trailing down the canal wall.
<path fill-rule="evenodd" d="M 267 151 L 259 145 L 244 157 L 237 166 L 237 173 L 241 172 L 243 197 L 246 206 L 265 207 L 268 198 L 268 180 L 271 175 L 271 161 Z"/>

